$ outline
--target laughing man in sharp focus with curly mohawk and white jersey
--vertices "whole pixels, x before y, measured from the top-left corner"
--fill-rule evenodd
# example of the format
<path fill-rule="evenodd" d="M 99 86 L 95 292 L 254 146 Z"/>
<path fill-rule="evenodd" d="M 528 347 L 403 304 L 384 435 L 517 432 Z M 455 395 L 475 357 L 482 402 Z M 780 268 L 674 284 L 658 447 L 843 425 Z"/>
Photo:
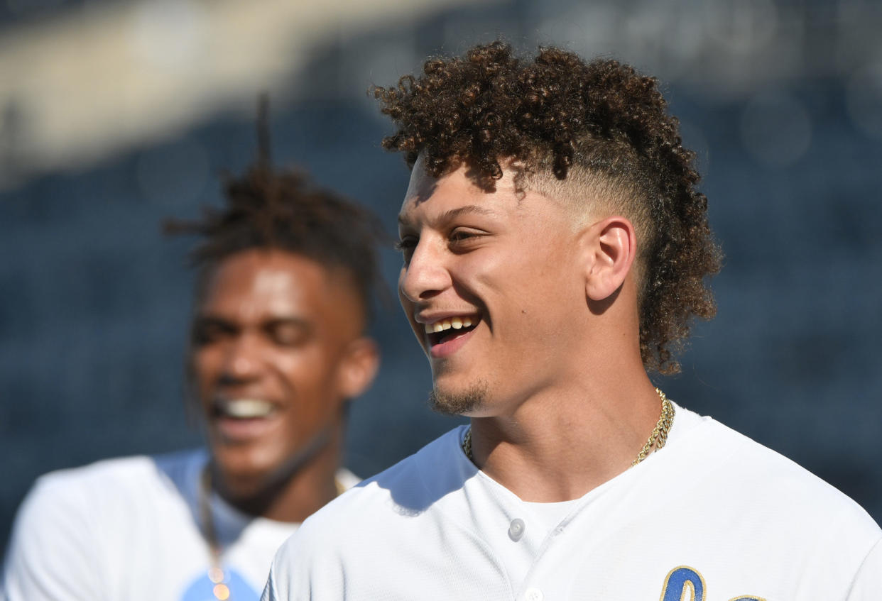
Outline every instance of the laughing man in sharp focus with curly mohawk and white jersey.
<path fill-rule="evenodd" d="M 401 305 L 471 424 L 311 516 L 264 598 L 878 599 L 863 509 L 647 375 L 720 262 L 655 80 L 497 42 L 377 96 L 412 168 Z"/>

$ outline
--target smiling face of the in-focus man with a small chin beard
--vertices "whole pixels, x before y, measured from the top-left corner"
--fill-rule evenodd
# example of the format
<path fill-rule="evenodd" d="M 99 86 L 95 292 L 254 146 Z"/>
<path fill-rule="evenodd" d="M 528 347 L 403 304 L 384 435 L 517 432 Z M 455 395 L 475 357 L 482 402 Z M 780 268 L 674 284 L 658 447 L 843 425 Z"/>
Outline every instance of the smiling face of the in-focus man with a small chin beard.
<path fill-rule="evenodd" d="M 429 358 L 441 411 L 490 416 L 565 377 L 584 313 L 572 209 L 512 174 L 486 192 L 460 167 L 418 162 L 401 206 L 401 306 Z"/>

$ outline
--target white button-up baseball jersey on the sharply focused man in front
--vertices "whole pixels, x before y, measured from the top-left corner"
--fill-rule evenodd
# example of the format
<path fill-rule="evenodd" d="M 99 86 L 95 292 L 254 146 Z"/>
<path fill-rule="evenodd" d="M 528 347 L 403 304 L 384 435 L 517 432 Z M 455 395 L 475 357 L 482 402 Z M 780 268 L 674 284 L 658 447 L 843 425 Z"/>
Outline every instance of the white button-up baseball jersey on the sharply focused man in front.
<path fill-rule="evenodd" d="M 667 446 L 577 501 L 475 468 L 465 427 L 311 516 L 265 601 L 878 601 L 882 531 L 770 449 L 676 407 Z"/>

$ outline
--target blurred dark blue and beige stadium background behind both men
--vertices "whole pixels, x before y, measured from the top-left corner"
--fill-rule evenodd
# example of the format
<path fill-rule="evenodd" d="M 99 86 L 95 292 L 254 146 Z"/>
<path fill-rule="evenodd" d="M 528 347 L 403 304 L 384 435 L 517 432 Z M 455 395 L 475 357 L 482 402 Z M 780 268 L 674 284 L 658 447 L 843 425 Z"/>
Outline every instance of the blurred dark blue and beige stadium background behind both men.
<path fill-rule="evenodd" d="M 394 231 L 407 169 L 366 90 L 503 35 L 664 82 L 726 252 L 669 397 L 804 464 L 882 519 L 882 3 L 857 0 L 5 0 L 0 4 L 0 540 L 42 472 L 194 446 L 191 240 L 255 156 Z M 400 257 L 384 254 L 390 287 Z M 549 303 L 554 297 L 549 295 Z M 369 475 L 452 427 L 400 309 L 352 412 Z M 761 491 L 757 492 L 761 494 Z"/>

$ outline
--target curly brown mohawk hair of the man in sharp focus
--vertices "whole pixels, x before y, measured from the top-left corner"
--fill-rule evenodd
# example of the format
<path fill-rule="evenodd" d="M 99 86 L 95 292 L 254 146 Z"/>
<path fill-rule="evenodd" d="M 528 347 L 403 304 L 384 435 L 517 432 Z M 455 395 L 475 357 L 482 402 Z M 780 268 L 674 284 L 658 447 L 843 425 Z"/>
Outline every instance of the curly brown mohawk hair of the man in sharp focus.
<path fill-rule="evenodd" d="M 507 160 L 520 190 L 601 191 L 637 229 L 644 366 L 680 371 L 675 353 L 691 316 L 716 312 L 706 278 L 720 270 L 721 251 L 696 189 L 695 153 L 683 147 L 655 78 L 560 48 L 520 58 L 502 41 L 432 58 L 423 71 L 373 88 L 398 127 L 383 146 L 404 152 L 411 168 L 422 155 L 434 177 L 467 163 L 489 189 Z"/>

